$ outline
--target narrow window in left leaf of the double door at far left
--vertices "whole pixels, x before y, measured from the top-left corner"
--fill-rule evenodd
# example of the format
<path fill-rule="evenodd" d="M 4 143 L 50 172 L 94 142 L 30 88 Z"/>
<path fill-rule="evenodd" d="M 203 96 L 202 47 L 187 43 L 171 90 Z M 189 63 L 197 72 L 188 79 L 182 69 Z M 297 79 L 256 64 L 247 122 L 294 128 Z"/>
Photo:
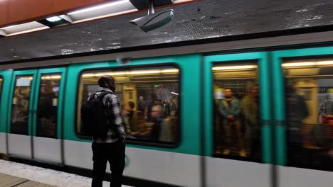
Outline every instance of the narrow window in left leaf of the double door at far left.
<path fill-rule="evenodd" d="M 32 76 L 17 76 L 11 105 L 11 133 L 28 135 L 28 107 Z"/>

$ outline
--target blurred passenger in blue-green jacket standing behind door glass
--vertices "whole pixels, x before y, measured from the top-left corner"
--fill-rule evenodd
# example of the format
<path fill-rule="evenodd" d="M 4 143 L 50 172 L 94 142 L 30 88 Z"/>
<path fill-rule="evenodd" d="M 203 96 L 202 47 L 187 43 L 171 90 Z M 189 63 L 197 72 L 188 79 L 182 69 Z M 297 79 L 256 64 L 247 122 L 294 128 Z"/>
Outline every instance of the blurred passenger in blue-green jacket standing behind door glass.
<path fill-rule="evenodd" d="M 224 90 L 224 98 L 218 103 L 218 112 L 223 119 L 224 132 L 226 133 L 227 148 L 223 154 L 228 155 L 231 149 L 231 130 L 235 128 L 239 143 L 240 157 L 246 157 L 243 137 L 240 130 L 240 106 L 237 98 L 233 97 L 231 89 Z"/>

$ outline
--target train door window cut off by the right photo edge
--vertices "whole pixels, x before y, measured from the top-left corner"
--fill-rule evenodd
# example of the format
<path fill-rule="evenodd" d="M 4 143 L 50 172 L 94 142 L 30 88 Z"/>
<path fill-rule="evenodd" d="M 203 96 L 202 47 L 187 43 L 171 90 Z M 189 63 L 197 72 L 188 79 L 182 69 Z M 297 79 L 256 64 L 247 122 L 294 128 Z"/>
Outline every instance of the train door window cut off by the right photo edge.
<path fill-rule="evenodd" d="M 287 164 L 333 171 L 333 61 L 285 60 Z"/>

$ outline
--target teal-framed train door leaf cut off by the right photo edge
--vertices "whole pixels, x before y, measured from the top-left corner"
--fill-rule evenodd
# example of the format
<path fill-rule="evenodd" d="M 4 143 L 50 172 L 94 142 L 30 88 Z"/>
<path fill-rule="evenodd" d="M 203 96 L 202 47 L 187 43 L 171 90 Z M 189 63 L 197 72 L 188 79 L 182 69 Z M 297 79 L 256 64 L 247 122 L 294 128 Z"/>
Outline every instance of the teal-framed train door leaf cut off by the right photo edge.
<path fill-rule="evenodd" d="M 272 52 L 277 186 L 332 186 L 332 51 Z"/>

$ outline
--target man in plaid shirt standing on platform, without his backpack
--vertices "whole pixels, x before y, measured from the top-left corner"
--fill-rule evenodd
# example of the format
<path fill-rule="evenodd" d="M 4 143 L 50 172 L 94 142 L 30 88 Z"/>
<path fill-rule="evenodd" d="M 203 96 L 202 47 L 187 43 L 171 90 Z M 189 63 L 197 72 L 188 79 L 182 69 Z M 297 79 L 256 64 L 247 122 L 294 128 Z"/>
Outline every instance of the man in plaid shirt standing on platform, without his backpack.
<path fill-rule="evenodd" d="M 103 75 L 98 79 L 97 89 L 115 93 L 115 79 Z M 89 99 L 89 98 L 88 98 Z M 122 186 L 122 173 L 125 167 L 125 125 L 122 119 L 120 101 L 116 94 L 106 94 L 102 98 L 108 123 L 113 122 L 107 137 L 93 137 L 93 182 L 92 187 L 102 187 L 107 161 L 110 163 L 110 187 Z"/>

